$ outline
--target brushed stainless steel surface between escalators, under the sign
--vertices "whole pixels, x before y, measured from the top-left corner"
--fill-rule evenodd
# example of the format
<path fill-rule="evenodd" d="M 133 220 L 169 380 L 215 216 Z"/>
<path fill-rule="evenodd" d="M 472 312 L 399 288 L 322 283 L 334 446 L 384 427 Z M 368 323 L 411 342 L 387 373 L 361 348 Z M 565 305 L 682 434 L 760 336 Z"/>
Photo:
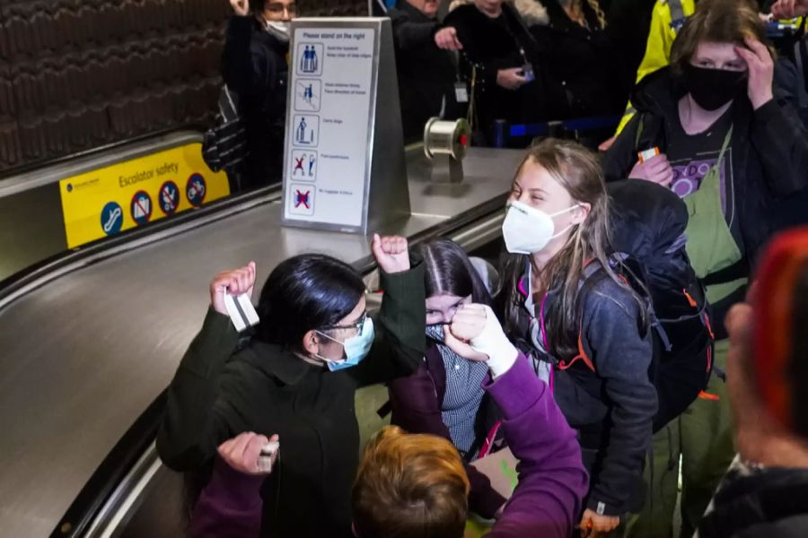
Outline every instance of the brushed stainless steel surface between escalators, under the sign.
<path fill-rule="evenodd" d="M 418 160 L 423 153 L 418 151 Z M 469 177 L 435 187 L 409 168 L 413 216 L 382 230 L 412 236 L 508 189 L 522 152 L 473 150 Z M 0 309 L 2 534 L 48 534 L 137 416 L 168 384 L 198 330 L 218 271 L 323 252 L 370 256 L 361 236 L 282 229 L 281 206 L 224 220 L 77 265 Z"/>

